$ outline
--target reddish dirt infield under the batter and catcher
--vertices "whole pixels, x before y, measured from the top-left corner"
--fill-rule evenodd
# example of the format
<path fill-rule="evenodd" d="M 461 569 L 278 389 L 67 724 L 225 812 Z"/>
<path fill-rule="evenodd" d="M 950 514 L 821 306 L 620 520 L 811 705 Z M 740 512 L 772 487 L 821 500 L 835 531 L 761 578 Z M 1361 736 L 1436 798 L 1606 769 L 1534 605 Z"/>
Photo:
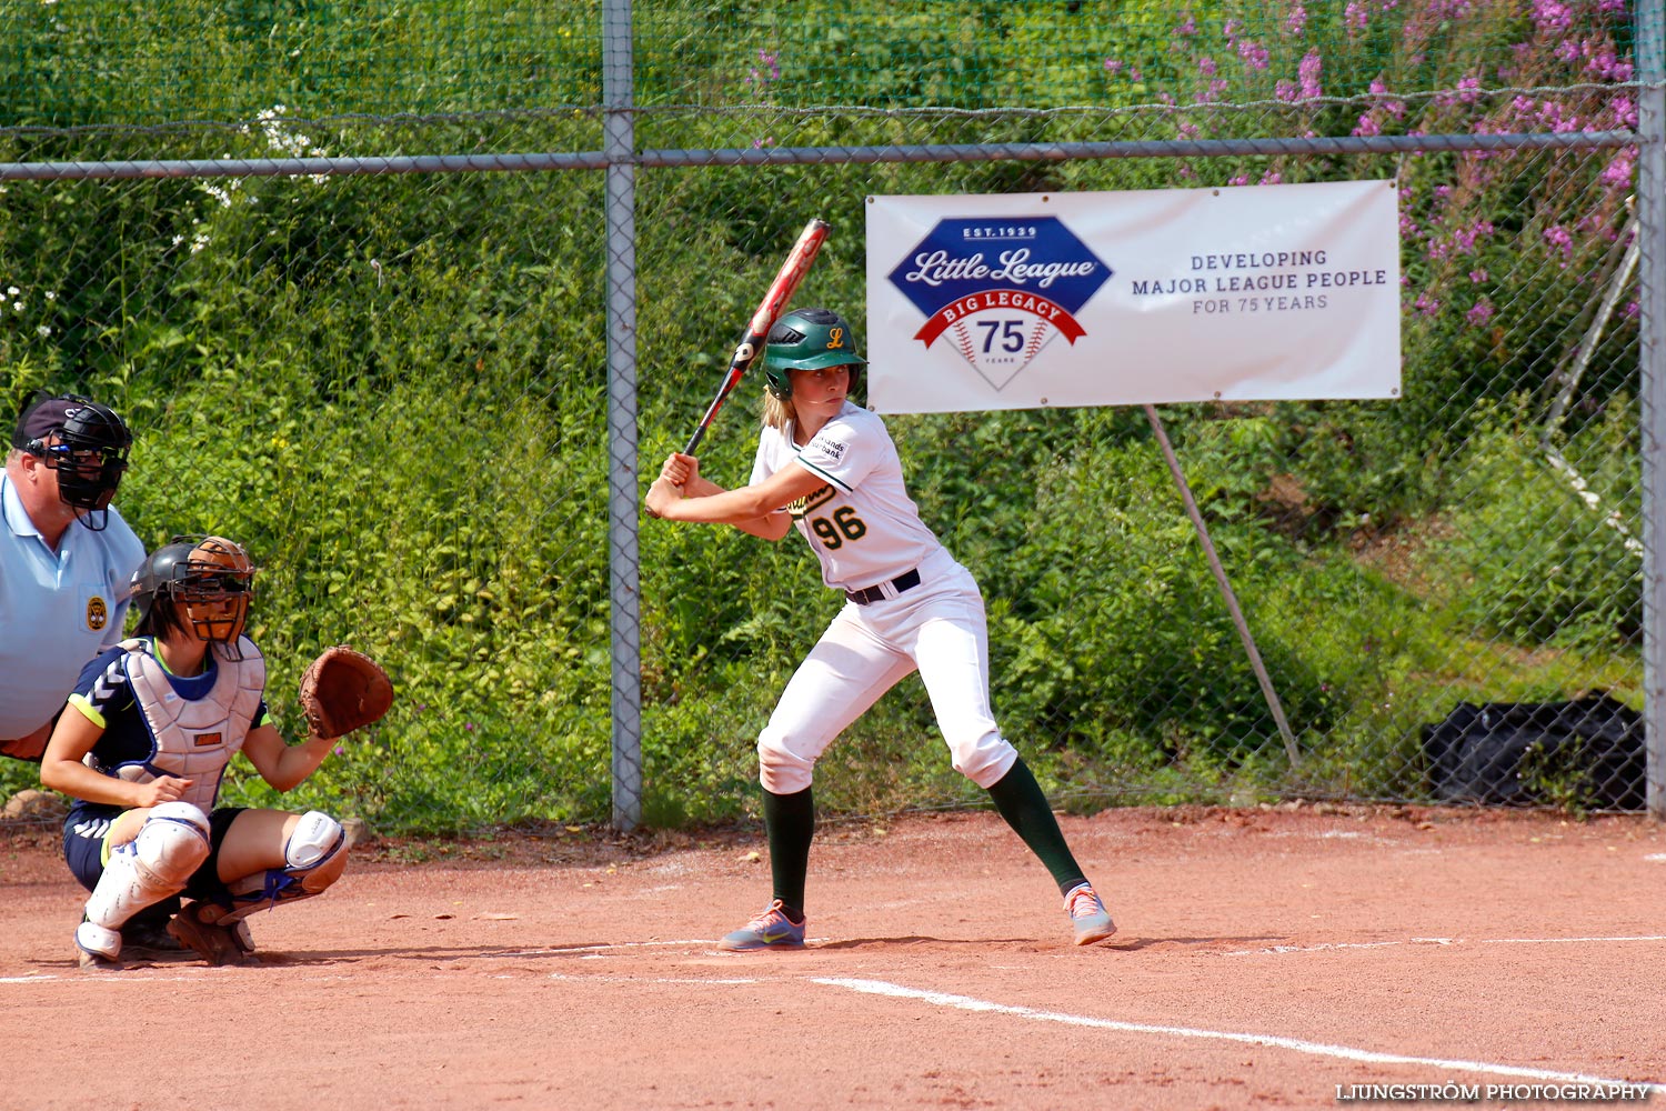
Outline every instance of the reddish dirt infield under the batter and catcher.
<path fill-rule="evenodd" d="M 1559 1106 L 1666 1083 L 1649 820 L 1063 821 L 1110 944 L 1070 944 L 980 813 L 828 825 L 801 953 L 715 946 L 766 901 L 753 833 L 568 831 L 362 846 L 253 919 L 263 966 L 122 973 L 75 968 L 82 896 L 55 838 L 13 830 L 0 1108 Z"/>

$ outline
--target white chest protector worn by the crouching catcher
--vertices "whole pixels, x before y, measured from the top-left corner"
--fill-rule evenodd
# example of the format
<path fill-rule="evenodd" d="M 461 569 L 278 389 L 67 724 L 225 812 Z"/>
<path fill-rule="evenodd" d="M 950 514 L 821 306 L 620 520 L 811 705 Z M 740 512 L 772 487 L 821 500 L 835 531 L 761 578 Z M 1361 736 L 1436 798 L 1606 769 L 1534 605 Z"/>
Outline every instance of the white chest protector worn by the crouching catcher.
<path fill-rule="evenodd" d="M 227 658 L 222 645 L 210 645 L 217 676 L 202 698 L 180 698 L 162 663 L 145 651 L 145 641 L 122 641 L 127 648 L 127 676 L 145 726 L 152 755 L 143 763 L 122 765 L 117 775 L 132 783 L 157 776 L 195 780 L 180 798 L 203 813 L 213 810 L 220 778 L 255 723 L 267 690 L 267 661 L 247 636 L 238 640 L 242 660 Z"/>

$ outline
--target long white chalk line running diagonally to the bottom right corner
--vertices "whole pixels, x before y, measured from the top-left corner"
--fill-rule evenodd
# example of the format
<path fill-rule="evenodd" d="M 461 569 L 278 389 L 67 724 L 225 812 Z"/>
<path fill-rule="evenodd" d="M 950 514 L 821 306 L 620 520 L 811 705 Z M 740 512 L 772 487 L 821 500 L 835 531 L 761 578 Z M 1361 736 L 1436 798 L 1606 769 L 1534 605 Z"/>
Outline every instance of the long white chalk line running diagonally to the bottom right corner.
<path fill-rule="evenodd" d="M 1318 1058 L 1336 1058 L 1339 1061 L 1359 1061 L 1364 1064 L 1418 1064 L 1424 1068 L 1444 1069 L 1449 1073 L 1484 1073 L 1491 1076 L 1518 1076 L 1521 1079 L 1579 1083 L 1579 1084 L 1646 1084 L 1651 1093 L 1666 1091 L 1666 1086 L 1653 1081 L 1609 1079 L 1589 1076 L 1586 1073 L 1558 1073 L 1553 1069 L 1531 1069 L 1518 1064 L 1496 1064 L 1491 1061 L 1461 1061 L 1446 1058 L 1414 1058 L 1399 1053 L 1378 1053 L 1374 1049 L 1356 1049 L 1353 1046 L 1333 1046 L 1321 1041 L 1303 1041 L 1279 1034 L 1243 1034 L 1225 1029 L 1198 1029 L 1193 1026 L 1155 1026 L 1148 1023 L 1123 1023 L 1111 1018 L 1090 1018 L 1085 1014 L 1065 1014 L 1060 1011 L 1038 1011 L 1028 1006 L 1010 1003 L 990 1003 L 970 996 L 948 994 L 945 991 L 925 991 L 905 988 L 883 979 L 846 979 L 843 976 L 816 976 L 811 983 L 831 988 L 846 988 L 865 994 L 890 996 L 893 999 L 916 999 L 931 1006 L 956 1008 L 961 1011 L 983 1011 L 990 1014 L 1011 1014 L 1036 1023 L 1063 1023 L 1066 1026 L 1086 1026 L 1091 1029 L 1115 1029 L 1125 1034 L 1158 1034 L 1165 1038 L 1191 1038 L 1200 1041 L 1230 1041 L 1246 1046 L 1264 1046 L 1269 1049 L 1289 1049 Z"/>

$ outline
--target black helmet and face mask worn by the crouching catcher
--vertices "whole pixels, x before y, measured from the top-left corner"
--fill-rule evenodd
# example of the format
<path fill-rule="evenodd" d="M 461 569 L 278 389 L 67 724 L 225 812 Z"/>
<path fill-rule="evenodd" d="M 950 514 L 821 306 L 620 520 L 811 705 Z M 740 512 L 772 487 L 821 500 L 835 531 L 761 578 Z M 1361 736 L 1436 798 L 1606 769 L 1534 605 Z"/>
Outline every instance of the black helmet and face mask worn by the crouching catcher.
<path fill-rule="evenodd" d="M 138 631 L 163 635 L 190 625 L 198 636 L 240 658 L 237 638 L 248 621 L 255 565 L 242 545 L 225 536 L 175 536 L 133 571 L 132 598 Z M 167 600 L 168 606 L 158 606 Z"/>

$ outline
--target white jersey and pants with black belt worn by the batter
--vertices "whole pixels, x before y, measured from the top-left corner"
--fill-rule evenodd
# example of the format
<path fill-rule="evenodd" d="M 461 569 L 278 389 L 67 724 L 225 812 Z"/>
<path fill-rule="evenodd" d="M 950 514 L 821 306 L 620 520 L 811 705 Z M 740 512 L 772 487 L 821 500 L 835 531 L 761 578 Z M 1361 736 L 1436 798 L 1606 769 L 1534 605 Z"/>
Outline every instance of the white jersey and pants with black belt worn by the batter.
<path fill-rule="evenodd" d="M 751 483 L 803 466 L 826 486 L 791 506 L 821 560 L 821 580 L 848 601 L 781 693 L 758 738 L 763 788 L 810 786 L 828 745 L 918 668 L 955 770 L 981 788 L 1018 760 L 990 710 L 983 595 L 920 520 L 896 445 L 875 413 L 846 401 L 798 446 L 793 425 L 765 428 Z"/>

